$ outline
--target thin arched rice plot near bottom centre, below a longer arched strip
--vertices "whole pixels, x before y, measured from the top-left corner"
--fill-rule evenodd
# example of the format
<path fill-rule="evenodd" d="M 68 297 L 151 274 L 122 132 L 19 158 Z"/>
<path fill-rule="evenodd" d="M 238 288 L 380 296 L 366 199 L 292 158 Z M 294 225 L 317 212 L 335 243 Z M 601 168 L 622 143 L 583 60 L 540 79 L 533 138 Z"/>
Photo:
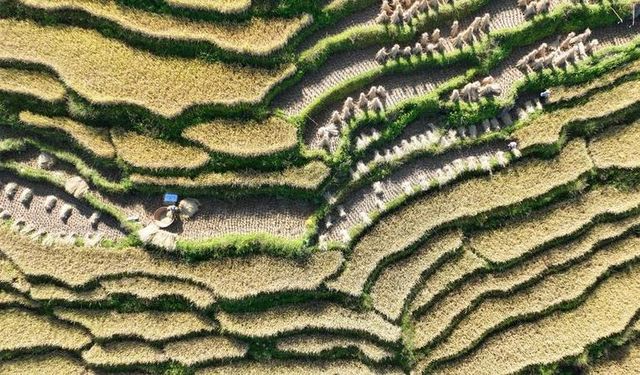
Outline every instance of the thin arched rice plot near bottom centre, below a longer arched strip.
<path fill-rule="evenodd" d="M 331 334 L 303 334 L 286 337 L 276 344 L 278 350 L 297 355 L 320 356 L 337 349 L 355 349 L 372 361 L 383 361 L 393 353 L 371 341 Z"/>

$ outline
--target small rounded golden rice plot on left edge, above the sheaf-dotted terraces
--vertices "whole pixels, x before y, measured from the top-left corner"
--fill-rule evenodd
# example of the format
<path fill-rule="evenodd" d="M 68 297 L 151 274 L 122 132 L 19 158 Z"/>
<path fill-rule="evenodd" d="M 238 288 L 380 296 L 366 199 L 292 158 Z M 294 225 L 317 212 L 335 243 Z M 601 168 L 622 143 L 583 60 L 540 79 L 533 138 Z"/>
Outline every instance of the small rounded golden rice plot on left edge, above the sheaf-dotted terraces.
<path fill-rule="evenodd" d="M 64 99 L 66 90 L 49 74 L 21 69 L 0 68 L 0 91 L 35 96 L 55 102 Z"/>

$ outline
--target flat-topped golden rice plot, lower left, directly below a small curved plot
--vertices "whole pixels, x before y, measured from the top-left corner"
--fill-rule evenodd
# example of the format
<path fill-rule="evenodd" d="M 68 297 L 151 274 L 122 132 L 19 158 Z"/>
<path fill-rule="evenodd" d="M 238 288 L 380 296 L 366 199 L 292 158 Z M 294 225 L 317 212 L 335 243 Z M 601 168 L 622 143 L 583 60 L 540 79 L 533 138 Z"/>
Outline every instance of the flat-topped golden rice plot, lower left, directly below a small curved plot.
<path fill-rule="evenodd" d="M 135 337 L 149 341 L 172 339 L 215 329 L 209 320 L 190 312 L 55 309 L 55 315 L 86 327 L 99 339 Z"/>

